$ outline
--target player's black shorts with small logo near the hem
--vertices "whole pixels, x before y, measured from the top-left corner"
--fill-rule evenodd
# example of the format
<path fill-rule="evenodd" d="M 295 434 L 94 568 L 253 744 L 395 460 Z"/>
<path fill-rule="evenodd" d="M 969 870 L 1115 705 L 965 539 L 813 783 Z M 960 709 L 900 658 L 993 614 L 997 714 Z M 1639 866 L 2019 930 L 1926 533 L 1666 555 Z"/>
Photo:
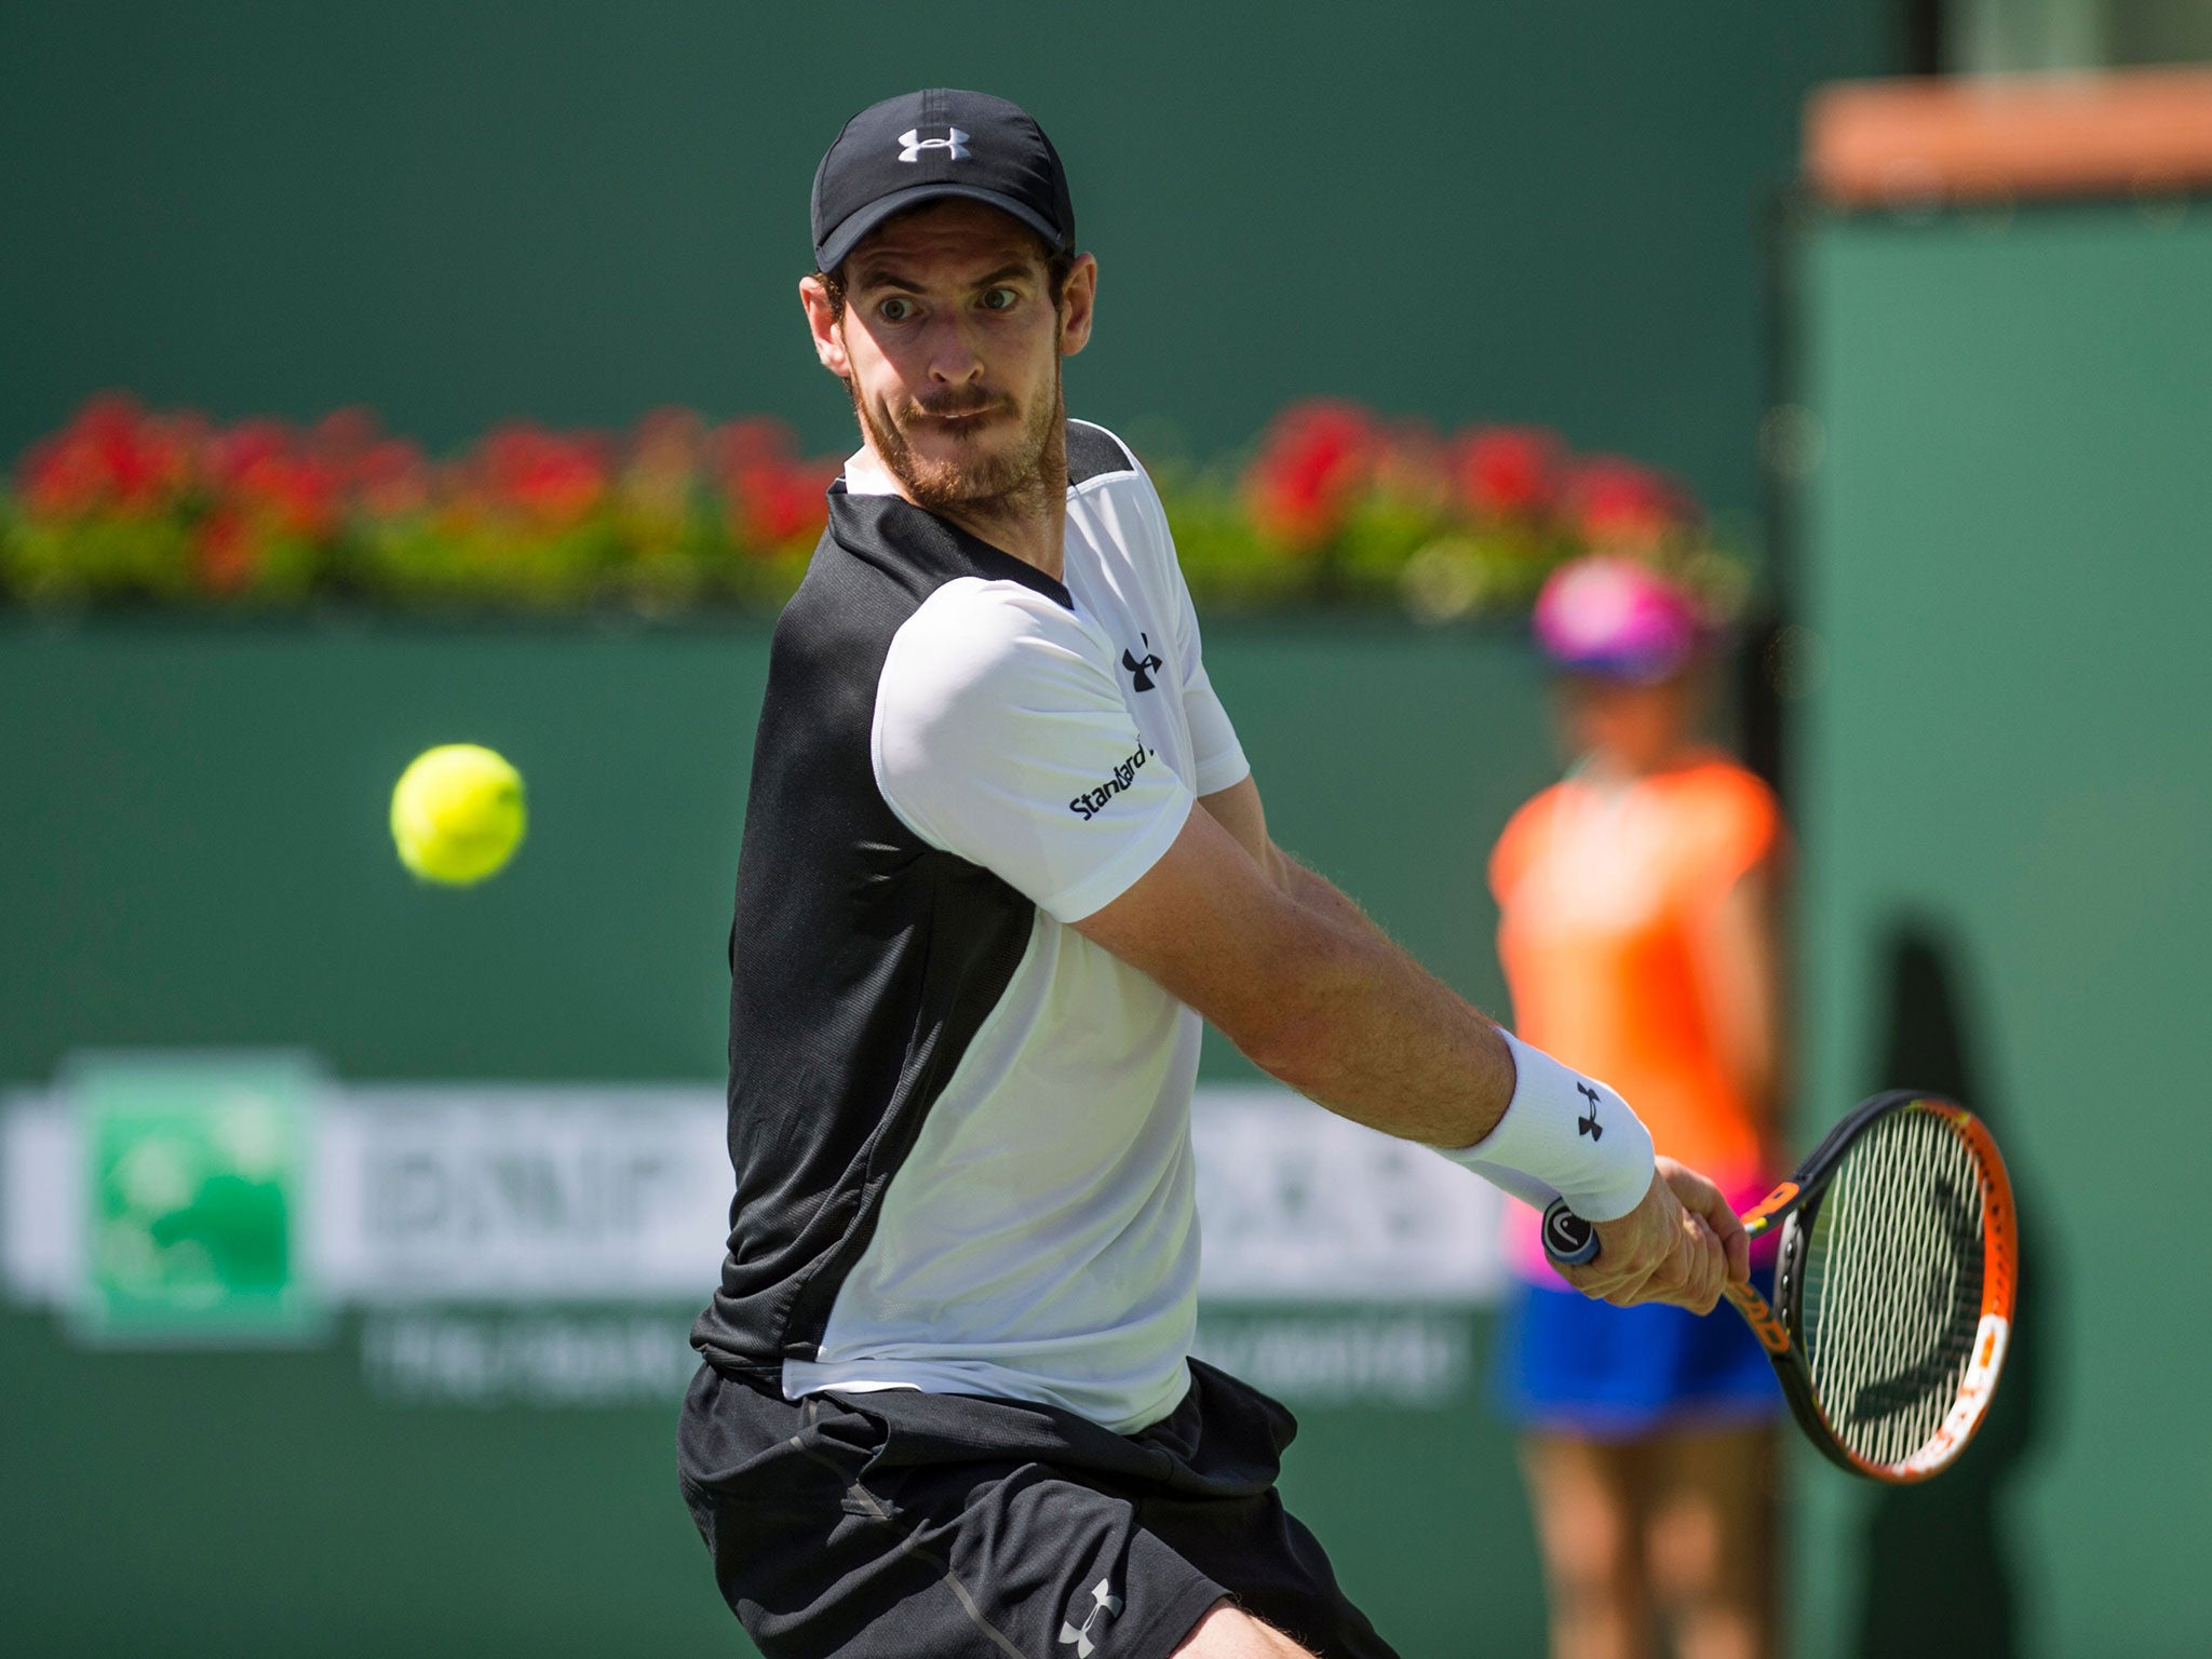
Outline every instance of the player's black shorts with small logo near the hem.
<path fill-rule="evenodd" d="M 1166 1659 L 1221 1599 L 1323 1659 L 1394 1659 L 1274 1493 L 1290 1411 L 1190 1376 L 1119 1436 L 964 1394 L 794 1405 L 701 1365 L 684 1498 L 768 1659 Z"/>

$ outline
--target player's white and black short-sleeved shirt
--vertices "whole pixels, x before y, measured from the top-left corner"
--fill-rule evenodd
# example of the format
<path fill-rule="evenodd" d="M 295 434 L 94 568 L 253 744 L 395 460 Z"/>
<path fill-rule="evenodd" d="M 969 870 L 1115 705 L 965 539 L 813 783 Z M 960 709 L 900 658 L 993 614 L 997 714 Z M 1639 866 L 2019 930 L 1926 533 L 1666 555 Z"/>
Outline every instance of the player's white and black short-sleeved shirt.
<path fill-rule="evenodd" d="M 1068 422 L 1064 584 L 847 462 L 752 763 L 714 1365 L 1175 1409 L 1199 1018 L 1071 922 L 1245 772 L 1113 434 Z"/>

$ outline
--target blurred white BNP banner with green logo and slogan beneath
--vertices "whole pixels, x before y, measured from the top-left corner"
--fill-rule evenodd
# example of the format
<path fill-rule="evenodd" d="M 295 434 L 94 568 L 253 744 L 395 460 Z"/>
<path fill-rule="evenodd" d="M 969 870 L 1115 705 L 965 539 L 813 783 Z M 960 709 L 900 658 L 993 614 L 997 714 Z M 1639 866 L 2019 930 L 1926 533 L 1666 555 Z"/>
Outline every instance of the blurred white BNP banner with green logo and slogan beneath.
<path fill-rule="evenodd" d="M 1323 1398 L 1464 1385 L 1460 1316 L 1500 1287 L 1489 1186 L 1276 1086 L 1201 1088 L 1192 1146 L 1203 1354 Z M 0 1104 L 13 1301 L 164 1347 L 323 1340 L 356 1307 L 367 1374 L 411 1398 L 666 1391 L 728 1203 L 714 1086 L 111 1055 Z"/>

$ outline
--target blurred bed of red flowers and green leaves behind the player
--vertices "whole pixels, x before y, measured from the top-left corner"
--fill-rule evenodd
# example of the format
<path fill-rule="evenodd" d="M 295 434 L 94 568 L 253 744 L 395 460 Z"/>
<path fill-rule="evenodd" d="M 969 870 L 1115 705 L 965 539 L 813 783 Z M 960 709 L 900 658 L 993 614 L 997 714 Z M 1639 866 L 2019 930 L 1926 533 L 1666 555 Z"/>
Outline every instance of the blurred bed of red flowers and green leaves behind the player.
<path fill-rule="evenodd" d="M 504 425 L 434 462 L 347 409 L 312 427 L 88 403 L 0 493 L 0 593 L 24 606 L 641 613 L 774 608 L 796 586 L 838 460 L 776 420 L 664 409 L 635 431 Z M 1192 593 L 1214 611 L 1402 606 L 1429 622 L 1526 608 L 1586 551 L 1663 564 L 1721 615 L 1743 593 L 1697 504 L 1548 431 L 1438 436 L 1303 403 L 1241 467 L 1161 465 Z"/>

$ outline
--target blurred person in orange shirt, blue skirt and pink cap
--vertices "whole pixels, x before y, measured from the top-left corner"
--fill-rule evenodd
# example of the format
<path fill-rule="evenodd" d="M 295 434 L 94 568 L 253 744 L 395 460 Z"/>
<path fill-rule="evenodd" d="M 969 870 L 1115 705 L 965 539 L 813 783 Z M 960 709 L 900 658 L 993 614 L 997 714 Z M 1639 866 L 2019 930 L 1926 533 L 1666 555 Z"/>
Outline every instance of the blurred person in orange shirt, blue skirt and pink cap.
<path fill-rule="evenodd" d="M 1573 752 L 1491 854 L 1515 1031 L 1606 1079 L 1655 1146 L 1747 1208 L 1781 1168 L 1774 794 L 1699 737 L 1712 639 L 1644 564 L 1586 557 L 1537 602 Z M 1781 1396 L 1741 1321 L 1610 1307 L 1544 1261 L 1520 1281 L 1498 1396 L 1522 1431 L 1553 1659 L 1774 1650 Z M 1772 1294 L 1772 1261 L 1754 1261 Z"/>

